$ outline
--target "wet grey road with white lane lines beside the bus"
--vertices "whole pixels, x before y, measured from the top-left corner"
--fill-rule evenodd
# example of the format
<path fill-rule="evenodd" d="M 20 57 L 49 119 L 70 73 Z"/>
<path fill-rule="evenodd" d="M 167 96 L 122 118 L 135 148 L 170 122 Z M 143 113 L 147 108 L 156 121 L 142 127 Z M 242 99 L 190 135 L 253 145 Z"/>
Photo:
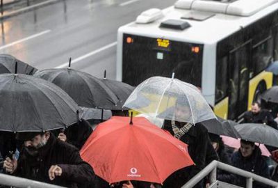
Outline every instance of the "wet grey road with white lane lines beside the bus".
<path fill-rule="evenodd" d="M 115 79 L 117 29 L 148 8 L 175 1 L 68 0 L 32 10 L 1 23 L 0 53 L 35 68 L 72 68 Z"/>

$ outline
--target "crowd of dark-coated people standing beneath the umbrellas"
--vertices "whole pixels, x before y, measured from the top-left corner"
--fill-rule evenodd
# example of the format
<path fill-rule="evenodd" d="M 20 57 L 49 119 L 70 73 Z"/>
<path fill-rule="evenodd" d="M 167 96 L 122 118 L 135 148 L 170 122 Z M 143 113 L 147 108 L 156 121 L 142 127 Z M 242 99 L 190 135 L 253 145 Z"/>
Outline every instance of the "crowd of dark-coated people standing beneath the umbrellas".
<path fill-rule="evenodd" d="M 177 102 L 175 116 L 186 116 L 188 106 Z M 115 114 L 115 113 L 114 113 Z M 126 116 L 126 112 L 117 113 Z M 264 123 L 277 130 L 277 118 L 273 118 L 268 109 L 261 109 L 258 102 L 252 104 L 251 111 L 243 117 L 243 123 Z M 109 184 L 95 175 L 92 166 L 81 159 L 81 150 L 86 139 L 92 134 L 92 124 L 81 119 L 66 130 L 47 132 L 0 132 L 1 173 L 22 178 L 38 180 L 63 187 L 182 187 L 188 180 L 202 171 L 213 160 L 236 166 L 245 171 L 261 175 L 264 178 L 278 180 L 276 169 L 270 171 L 270 164 L 275 164 L 275 157 L 261 155 L 261 150 L 252 141 L 241 140 L 240 148 L 225 146 L 222 138 L 209 133 L 202 123 L 193 125 L 176 120 L 165 120 L 163 129 L 180 141 L 188 144 L 188 152 L 195 165 L 172 173 L 159 185 L 152 182 L 124 181 Z M 277 148 L 268 147 L 275 153 Z M 13 151 L 13 152 L 11 152 Z M 245 178 L 218 169 L 217 179 L 233 185 L 245 187 Z M 208 178 L 195 187 L 208 187 Z M 254 182 L 253 187 L 268 187 Z"/>

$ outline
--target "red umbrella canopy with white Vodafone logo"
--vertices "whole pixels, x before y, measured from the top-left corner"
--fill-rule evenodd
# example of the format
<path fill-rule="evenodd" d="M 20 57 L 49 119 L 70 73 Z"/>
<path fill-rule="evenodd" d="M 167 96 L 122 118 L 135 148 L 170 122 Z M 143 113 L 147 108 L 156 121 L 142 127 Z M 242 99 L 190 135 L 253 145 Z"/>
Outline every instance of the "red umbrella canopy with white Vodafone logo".
<path fill-rule="evenodd" d="M 146 118 L 112 117 L 99 124 L 81 150 L 81 157 L 109 183 L 123 180 L 163 181 L 193 165 L 187 145 Z"/>

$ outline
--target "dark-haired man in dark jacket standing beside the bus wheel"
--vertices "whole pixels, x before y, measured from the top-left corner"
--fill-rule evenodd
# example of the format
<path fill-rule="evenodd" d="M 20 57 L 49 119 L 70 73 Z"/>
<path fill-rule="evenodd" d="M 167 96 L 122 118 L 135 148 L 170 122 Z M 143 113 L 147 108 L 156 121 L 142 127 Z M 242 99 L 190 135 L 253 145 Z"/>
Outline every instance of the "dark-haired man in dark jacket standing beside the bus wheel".
<path fill-rule="evenodd" d="M 277 130 L 277 123 L 271 113 L 266 109 L 261 109 L 259 102 L 253 102 L 251 111 L 246 111 L 243 116 L 243 123 L 265 123 Z"/>

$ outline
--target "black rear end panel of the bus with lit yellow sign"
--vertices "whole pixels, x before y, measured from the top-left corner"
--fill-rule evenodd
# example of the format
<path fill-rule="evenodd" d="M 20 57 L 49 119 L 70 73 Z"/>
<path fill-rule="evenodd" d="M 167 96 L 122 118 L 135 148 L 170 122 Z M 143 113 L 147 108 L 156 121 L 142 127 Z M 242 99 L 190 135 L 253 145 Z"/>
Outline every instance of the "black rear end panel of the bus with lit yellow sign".
<path fill-rule="evenodd" d="M 201 87 L 203 46 L 124 34 L 122 81 L 137 86 L 154 76 L 174 77 Z"/>

